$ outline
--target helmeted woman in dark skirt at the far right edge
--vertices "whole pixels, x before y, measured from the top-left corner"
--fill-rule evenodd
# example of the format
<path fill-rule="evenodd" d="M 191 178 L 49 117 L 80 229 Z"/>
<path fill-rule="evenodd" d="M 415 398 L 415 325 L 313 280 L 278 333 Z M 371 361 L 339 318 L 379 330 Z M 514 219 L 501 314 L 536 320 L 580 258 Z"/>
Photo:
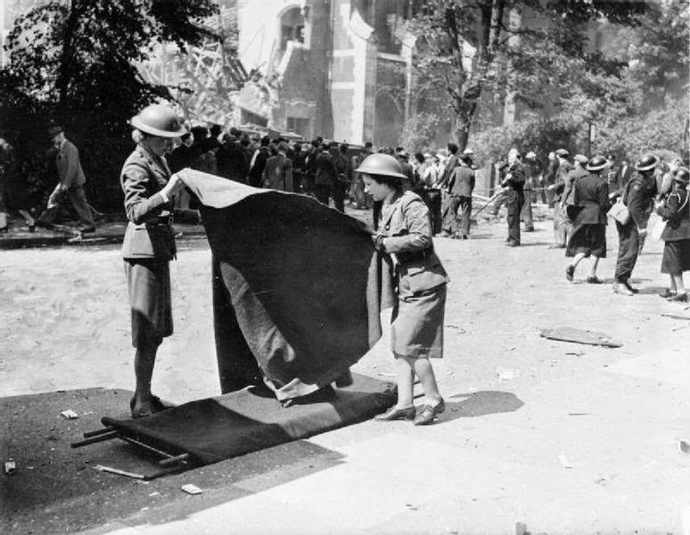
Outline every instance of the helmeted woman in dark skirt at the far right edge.
<path fill-rule="evenodd" d="M 690 171 L 680 168 L 672 177 L 673 189 L 656 213 L 666 221 L 661 233 L 664 242 L 661 273 L 670 276 L 670 301 L 687 302 L 683 272 L 690 270 L 690 205 L 687 185 Z"/>

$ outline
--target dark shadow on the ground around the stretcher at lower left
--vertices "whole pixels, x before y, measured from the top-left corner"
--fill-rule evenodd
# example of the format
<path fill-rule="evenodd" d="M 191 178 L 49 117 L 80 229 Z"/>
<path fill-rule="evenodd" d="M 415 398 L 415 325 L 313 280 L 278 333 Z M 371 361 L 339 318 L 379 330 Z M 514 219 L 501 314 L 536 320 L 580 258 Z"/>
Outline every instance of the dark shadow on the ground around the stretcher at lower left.
<path fill-rule="evenodd" d="M 131 517 L 144 507 L 164 506 L 166 517 L 142 522 L 168 522 L 171 516 L 206 508 L 214 499 L 251 494 L 235 483 L 257 480 L 274 487 L 341 462 L 337 452 L 296 440 L 154 481 L 95 471 L 95 465 L 131 473 L 157 470 L 156 458 L 120 440 L 70 448 L 84 432 L 102 427 L 101 416 L 127 417 L 130 395 L 94 388 L 0 399 L 2 460 L 12 458 L 17 465 L 16 473 L 0 475 L 0 532 L 81 531 Z M 60 413 L 67 409 L 78 413 L 78 419 L 63 418 Z M 203 489 L 206 498 L 193 500 L 180 490 L 185 483 Z M 212 490 L 218 491 L 209 496 Z"/>

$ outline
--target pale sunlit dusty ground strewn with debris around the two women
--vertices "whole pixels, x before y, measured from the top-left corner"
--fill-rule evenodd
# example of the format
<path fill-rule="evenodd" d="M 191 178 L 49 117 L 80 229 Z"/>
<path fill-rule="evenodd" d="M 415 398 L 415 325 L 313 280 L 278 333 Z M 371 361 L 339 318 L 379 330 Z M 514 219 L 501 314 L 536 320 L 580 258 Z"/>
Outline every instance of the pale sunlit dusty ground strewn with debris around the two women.
<path fill-rule="evenodd" d="M 366 422 L 325 433 L 304 442 L 321 452 L 314 459 L 329 459 L 308 465 L 320 466 L 316 473 L 303 456 L 277 449 L 274 465 L 259 474 L 250 468 L 242 474 L 243 463 L 255 457 L 234 459 L 231 480 L 214 481 L 206 469 L 198 477 L 153 481 L 142 496 L 166 489 L 165 500 L 158 495 L 140 503 L 139 513 L 115 507 L 117 516 L 103 512 L 70 525 L 107 523 L 93 532 L 121 535 L 514 533 L 516 522 L 532 533 L 682 533 L 690 457 L 678 451 L 677 439 L 690 436 L 690 321 L 661 313 L 690 311 L 657 295 L 667 284 L 659 272 L 661 243 L 649 243 L 639 259 L 633 282 L 641 294 L 625 298 L 609 284 L 582 284 L 586 261 L 576 284 L 568 284 L 563 251 L 547 249 L 550 223 L 537 228 L 516 249 L 505 248 L 503 224 L 482 223 L 467 242 L 436 241 L 453 280 L 446 358 L 434 363 L 448 400 L 438 424 Z M 609 281 L 614 235 L 610 228 L 609 258 L 600 269 Z M 176 333 L 161 347 L 154 389 L 182 403 L 218 394 L 218 379 L 209 251 L 202 240 L 179 249 L 172 264 Z M 127 289 L 117 247 L 2 256 L 0 396 L 131 390 Z M 604 331 L 624 345 L 605 349 L 539 336 L 540 328 L 566 325 Z M 390 358 L 375 349 L 357 371 L 388 379 Z M 46 414 L 45 425 L 65 423 Z M 17 455 L 9 442 L 5 435 L 0 460 Z M 66 469 L 78 472 L 88 455 L 70 457 Z M 221 472 L 223 465 L 217 465 Z M 6 478 L 21 480 L 24 468 L 0 476 L 4 491 Z M 125 481 L 113 484 L 134 485 Z M 175 490 L 177 482 L 201 482 L 207 491 L 187 496 Z M 19 518 L 5 528 L 48 532 L 53 525 Z"/>

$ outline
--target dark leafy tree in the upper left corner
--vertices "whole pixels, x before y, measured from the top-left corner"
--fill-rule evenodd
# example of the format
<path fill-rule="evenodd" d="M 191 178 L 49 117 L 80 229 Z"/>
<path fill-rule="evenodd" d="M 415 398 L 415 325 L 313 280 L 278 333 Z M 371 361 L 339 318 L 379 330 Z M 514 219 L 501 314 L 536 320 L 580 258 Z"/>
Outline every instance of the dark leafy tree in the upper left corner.
<path fill-rule="evenodd" d="M 156 99 L 171 99 L 167 87 L 144 81 L 137 63 L 158 43 L 185 50 L 213 37 L 203 21 L 216 12 L 212 0 L 49 0 L 31 9 L 5 44 L 0 127 L 18 155 L 36 160 L 48 121 L 61 122 L 81 142 L 93 193 L 117 189 L 113 178 L 131 147 L 127 120 Z M 22 116 L 29 120 L 13 119 Z M 37 165 L 24 169 L 41 187 Z"/>

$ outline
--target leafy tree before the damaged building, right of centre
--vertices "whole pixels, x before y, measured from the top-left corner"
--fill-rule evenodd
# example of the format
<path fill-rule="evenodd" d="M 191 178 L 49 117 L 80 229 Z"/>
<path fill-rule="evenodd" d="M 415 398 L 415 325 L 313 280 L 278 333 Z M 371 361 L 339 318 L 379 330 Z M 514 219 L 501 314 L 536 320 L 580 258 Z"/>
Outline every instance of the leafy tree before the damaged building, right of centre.
<path fill-rule="evenodd" d="M 467 143 L 482 94 L 543 104 L 583 73 L 617 74 L 621 64 L 587 51 L 585 29 L 603 17 L 637 24 L 644 2 L 604 0 L 424 0 L 408 29 L 418 37 L 415 70 L 441 88 Z M 554 93 L 555 90 L 555 93 Z"/>

